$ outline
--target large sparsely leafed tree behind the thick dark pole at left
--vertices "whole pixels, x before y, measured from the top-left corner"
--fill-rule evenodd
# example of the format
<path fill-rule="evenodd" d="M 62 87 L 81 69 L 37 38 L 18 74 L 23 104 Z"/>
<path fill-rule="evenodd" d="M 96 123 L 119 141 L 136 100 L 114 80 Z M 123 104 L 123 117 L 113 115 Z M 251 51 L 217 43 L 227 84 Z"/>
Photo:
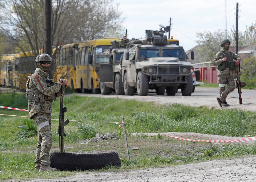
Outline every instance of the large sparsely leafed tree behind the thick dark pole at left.
<path fill-rule="evenodd" d="M 53 48 L 62 43 L 103 38 L 109 32 L 121 36 L 121 12 L 113 1 L 53 0 Z M 1 0 L 0 9 L 0 31 L 21 51 L 38 54 L 44 43 L 44 1 Z"/>

